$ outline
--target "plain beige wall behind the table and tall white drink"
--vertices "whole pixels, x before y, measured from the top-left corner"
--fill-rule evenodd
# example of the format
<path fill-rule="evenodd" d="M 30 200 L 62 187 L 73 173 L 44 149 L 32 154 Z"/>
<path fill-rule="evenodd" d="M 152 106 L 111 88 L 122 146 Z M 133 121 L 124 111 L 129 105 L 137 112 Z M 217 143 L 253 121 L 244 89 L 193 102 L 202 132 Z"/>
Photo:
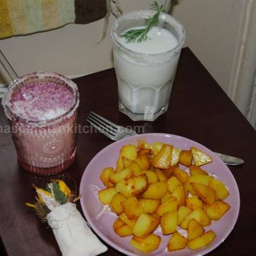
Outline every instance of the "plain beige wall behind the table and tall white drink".
<path fill-rule="evenodd" d="M 246 1 L 172 1 L 177 2 L 172 13 L 186 29 L 185 45 L 195 52 L 226 92 L 239 34 L 237 27 Z M 148 8 L 152 1 L 120 0 L 120 3 L 127 12 Z M 35 70 L 51 70 L 71 77 L 90 74 L 113 67 L 109 33 L 103 42 L 96 44 L 103 24 L 104 20 L 88 25 L 69 24 L 54 31 L 16 36 L 0 40 L 0 49 L 19 75 Z"/>

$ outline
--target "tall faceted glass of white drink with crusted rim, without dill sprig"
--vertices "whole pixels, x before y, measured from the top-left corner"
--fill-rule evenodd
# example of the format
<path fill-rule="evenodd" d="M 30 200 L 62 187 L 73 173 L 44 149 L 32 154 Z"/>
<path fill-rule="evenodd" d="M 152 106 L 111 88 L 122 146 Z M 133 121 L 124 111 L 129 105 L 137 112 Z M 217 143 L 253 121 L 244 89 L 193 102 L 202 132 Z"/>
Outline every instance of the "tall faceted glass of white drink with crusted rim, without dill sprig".
<path fill-rule="evenodd" d="M 118 82 L 119 110 L 134 121 L 154 121 L 168 109 L 185 31 L 171 15 L 163 28 L 150 29 L 143 42 L 127 42 L 121 37 L 131 29 L 145 28 L 154 10 L 125 13 L 113 23 L 113 56 Z"/>

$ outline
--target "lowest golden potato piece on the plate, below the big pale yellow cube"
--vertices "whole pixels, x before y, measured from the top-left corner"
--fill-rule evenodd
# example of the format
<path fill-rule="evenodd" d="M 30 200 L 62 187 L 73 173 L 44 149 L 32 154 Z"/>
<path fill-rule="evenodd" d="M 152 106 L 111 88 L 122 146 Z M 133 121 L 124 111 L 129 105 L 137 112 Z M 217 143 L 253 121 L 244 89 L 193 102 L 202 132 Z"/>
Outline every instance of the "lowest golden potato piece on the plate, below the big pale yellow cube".
<path fill-rule="evenodd" d="M 154 234 L 145 238 L 133 236 L 130 244 L 143 253 L 150 253 L 156 250 L 161 243 L 161 238 Z"/>

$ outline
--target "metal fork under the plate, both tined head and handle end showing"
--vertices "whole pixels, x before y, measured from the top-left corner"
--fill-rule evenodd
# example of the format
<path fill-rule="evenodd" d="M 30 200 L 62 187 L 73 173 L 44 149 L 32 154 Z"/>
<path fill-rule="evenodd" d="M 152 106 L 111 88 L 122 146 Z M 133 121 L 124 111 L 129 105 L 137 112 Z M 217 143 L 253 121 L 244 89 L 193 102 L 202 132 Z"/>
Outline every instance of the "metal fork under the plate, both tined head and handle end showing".
<path fill-rule="evenodd" d="M 90 111 L 87 122 L 89 122 L 95 129 L 97 129 L 99 132 L 102 132 L 105 136 L 110 138 L 111 140 L 121 140 L 122 138 L 127 138 L 132 135 L 137 135 L 136 132 L 134 132 L 132 129 L 127 129 L 123 126 L 114 124 L 110 122 L 108 119 L 97 115 L 93 111 Z M 240 159 L 238 157 L 234 156 L 228 156 L 225 154 L 220 154 L 217 152 L 214 152 L 217 156 L 220 157 L 220 159 L 228 165 L 240 165 L 243 164 L 243 159 Z"/>

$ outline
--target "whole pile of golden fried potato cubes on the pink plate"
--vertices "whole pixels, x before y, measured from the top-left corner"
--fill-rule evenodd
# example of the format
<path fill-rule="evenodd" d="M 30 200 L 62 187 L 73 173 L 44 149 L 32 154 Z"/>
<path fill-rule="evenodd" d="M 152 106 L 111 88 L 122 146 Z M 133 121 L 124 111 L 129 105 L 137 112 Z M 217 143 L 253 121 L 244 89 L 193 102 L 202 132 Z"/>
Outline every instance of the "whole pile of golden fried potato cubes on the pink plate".
<path fill-rule="evenodd" d="M 164 236 L 172 234 L 168 251 L 196 250 L 211 243 L 216 234 L 204 227 L 230 209 L 223 201 L 229 195 L 225 184 L 200 168 L 211 162 L 196 147 L 181 150 L 141 140 L 137 147 L 122 147 L 116 169 L 102 170 L 100 179 L 106 188 L 98 193 L 100 202 L 118 216 L 115 233 L 132 236 L 130 244 L 143 253 L 159 247 L 161 237 L 154 234 L 159 225 Z M 180 164 L 188 166 L 187 172 Z M 178 227 L 188 235 L 182 236 Z"/>

